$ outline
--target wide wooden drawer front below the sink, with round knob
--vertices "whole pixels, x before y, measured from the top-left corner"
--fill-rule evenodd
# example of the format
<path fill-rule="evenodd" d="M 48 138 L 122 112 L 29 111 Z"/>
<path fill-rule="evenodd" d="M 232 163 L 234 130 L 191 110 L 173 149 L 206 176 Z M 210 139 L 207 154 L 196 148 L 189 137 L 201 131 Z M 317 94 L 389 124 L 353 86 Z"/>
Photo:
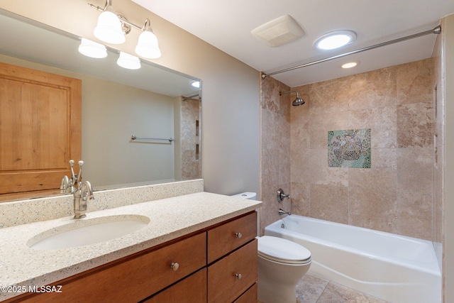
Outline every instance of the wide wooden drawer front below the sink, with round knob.
<path fill-rule="evenodd" d="M 171 263 L 179 263 L 177 270 Z M 79 275 L 29 302 L 138 302 L 206 266 L 206 233 Z"/>

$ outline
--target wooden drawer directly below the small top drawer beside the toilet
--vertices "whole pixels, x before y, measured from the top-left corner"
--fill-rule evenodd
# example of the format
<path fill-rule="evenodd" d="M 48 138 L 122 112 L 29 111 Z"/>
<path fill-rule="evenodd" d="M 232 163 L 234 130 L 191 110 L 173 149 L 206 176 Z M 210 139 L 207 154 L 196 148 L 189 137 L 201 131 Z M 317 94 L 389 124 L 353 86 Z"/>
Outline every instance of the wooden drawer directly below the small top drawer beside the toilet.
<path fill-rule="evenodd" d="M 236 275 L 240 275 L 237 277 Z M 233 302 L 257 281 L 257 240 L 208 268 L 208 302 Z"/>

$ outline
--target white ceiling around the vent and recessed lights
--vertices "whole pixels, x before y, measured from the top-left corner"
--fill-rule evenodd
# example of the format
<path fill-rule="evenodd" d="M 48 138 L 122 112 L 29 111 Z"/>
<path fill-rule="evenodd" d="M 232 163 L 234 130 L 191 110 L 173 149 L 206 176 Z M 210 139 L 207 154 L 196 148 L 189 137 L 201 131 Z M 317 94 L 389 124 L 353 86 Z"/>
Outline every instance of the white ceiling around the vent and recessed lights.
<path fill-rule="evenodd" d="M 438 26 L 443 16 L 454 13 L 454 0 L 133 1 L 265 73 L 431 30 Z M 304 29 L 303 38 L 270 48 L 250 33 L 287 14 Z M 153 26 L 153 20 L 151 23 Z M 334 51 L 314 47 L 316 38 L 338 30 L 355 31 L 355 42 Z M 431 56 L 435 39 L 435 34 L 426 35 L 272 77 L 289 87 L 297 87 L 421 60 Z M 360 65 L 350 70 L 341 69 L 341 64 L 351 60 L 359 61 Z"/>

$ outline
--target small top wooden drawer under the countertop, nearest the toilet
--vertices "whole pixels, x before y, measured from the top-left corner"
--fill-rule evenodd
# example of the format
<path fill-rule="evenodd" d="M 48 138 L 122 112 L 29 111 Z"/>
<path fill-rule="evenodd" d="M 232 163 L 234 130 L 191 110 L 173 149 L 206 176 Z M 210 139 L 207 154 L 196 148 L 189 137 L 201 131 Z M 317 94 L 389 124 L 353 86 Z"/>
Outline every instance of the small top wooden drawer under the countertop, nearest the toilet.
<path fill-rule="evenodd" d="M 257 236 L 257 212 L 208 231 L 208 263 L 248 243 Z"/>

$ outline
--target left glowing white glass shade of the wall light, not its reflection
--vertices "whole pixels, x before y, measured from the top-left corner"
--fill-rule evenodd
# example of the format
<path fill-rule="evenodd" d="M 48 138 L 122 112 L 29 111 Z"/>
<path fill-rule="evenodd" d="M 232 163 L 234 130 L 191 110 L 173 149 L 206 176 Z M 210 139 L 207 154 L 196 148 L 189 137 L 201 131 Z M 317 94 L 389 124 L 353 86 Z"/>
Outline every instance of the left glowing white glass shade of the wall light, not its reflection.
<path fill-rule="evenodd" d="M 121 30 L 121 21 L 115 13 L 103 11 L 98 17 L 98 24 L 94 28 L 94 36 L 101 41 L 111 44 L 121 44 L 126 41 Z"/>

